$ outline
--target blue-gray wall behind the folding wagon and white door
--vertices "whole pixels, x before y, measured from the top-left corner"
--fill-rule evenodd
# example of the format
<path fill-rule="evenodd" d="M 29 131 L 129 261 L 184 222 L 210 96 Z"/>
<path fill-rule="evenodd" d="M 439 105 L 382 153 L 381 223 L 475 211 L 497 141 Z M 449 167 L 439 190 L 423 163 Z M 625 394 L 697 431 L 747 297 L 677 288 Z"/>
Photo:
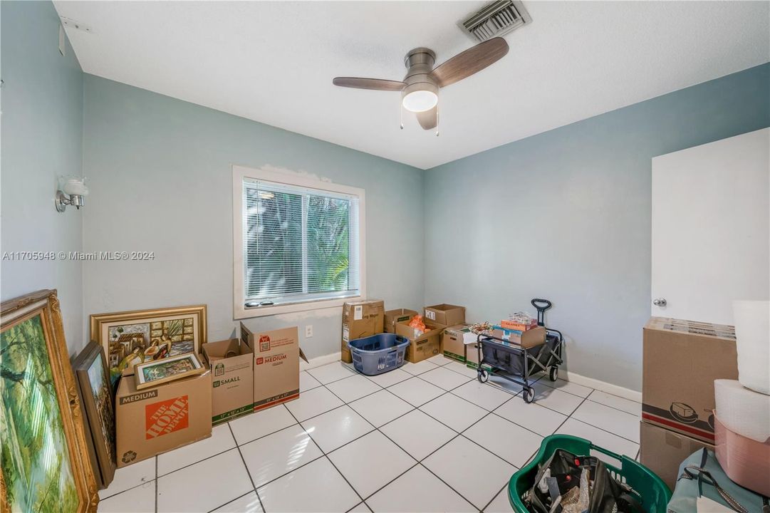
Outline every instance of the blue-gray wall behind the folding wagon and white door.
<path fill-rule="evenodd" d="M 766 126 L 768 64 L 428 170 L 426 303 L 496 321 L 550 299 L 568 370 L 641 390 L 651 158 Z"/>

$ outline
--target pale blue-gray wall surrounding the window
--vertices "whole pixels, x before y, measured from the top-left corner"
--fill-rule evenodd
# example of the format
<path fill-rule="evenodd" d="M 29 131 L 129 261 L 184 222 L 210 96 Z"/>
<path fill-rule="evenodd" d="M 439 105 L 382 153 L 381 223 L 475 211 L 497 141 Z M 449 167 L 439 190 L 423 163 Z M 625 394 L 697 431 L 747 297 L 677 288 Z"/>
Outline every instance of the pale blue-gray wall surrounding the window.
<path fill-rule="evenodd" d="M 86 251 L 154 251 L 85 263 L 85 313 L 206 303 L 209 340 L 233 333 L 233 163 L 276 166 L 366 189 L 367 295 L 423 303 L 423 172 L 136 87 L 85 75 Z M 337 307 L 260 317 L 297 324 L 308 357 L 340 350 Z M 306 324 L 314 336 L 304 340 Z"/>

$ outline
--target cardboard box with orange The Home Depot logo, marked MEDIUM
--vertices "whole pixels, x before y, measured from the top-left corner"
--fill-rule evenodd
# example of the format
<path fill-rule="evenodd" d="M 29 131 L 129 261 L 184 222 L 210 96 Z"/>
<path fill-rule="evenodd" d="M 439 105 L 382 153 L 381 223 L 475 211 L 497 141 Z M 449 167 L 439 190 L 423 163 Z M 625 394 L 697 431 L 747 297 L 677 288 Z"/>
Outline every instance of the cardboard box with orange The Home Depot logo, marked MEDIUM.
<path fill-rule="evenodd" d="M 136 390 L 121 377 L 115 393 L 118 468 L 211 436 L 211 372 Z"/>

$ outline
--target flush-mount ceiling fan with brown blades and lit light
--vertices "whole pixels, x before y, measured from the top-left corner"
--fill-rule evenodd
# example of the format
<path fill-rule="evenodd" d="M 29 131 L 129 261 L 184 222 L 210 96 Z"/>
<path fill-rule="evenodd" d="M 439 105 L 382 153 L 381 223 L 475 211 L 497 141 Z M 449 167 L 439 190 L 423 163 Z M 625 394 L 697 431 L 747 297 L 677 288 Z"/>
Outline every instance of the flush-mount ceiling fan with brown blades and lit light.
<path fill-rule="evenodd" d="M 420 126 L 430 130 L 438 125 L 438 90 L 480 72 L 502 59 L 507 52 L 505 39 L 493 38 L 455 55 L 434 69 L 436 54 L 433 50 L 416 48 L 403 59 L 407 75 L 401 82 L 349 76 L 338 76 L 332 82 L 340 87 L 400 91 L 403 108 L 416 113 Z"/>

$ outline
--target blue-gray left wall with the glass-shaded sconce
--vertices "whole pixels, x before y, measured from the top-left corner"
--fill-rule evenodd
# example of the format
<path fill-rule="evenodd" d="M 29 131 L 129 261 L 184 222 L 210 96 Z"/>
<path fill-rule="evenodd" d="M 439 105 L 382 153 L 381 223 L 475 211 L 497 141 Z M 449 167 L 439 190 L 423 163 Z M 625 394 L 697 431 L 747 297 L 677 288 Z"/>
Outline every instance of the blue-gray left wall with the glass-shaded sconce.
<path fill-rule="evenodd" d="M 59 53 L 51 2 L 0 2 L 2 252 L 82 250 L 82 210 L 57 213 L 57 176 L 82 173 L 83 73 Z M 82 265 L 2 260 L 2 300 L 56 288 L 70 353 L 85 345 Z"/>

